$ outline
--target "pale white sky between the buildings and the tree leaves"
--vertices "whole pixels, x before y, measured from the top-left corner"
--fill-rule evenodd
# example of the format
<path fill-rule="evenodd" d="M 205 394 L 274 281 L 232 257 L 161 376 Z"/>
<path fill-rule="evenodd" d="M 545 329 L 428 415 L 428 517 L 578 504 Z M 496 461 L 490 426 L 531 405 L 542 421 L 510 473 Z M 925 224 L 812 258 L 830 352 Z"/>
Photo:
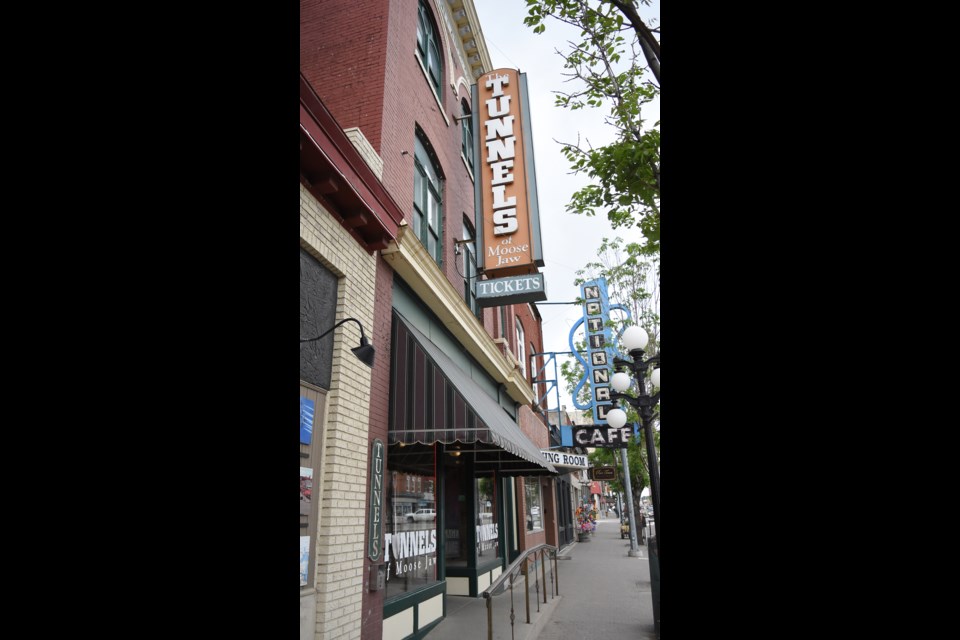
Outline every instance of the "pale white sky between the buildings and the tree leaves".
<path fill-rule="evenodd" d="M 570 111 L 554 106 L 556 96 L 553 91 L 572 89 L 571 85 L 564 83 L 563 59 L 555 50 L 566 51 L 569 48 L 568 40 L 579 41 L 578 30 L 550 19 L 544 33 L 534 34 L 530 27 L 523 24 L 527 15 L 524 0 L 474 0 L 474 6 L 494 68 L 509 67 L 527 74 L 545 262 L 541 272 L 547 287 L 546 301 L 570 302 L 579 294 L 578 287 L 573 284 L 576 271 L 596 258 L 604 237 L 620 236 L 632 242 L 642 241 L 639 229 L 621 227 L 614 230 L 604 214 L 587 217 L 566 211 L 572 194 L 588 181 L 583 175 L 574 176 L 570 173 L 567 159 L 560 153 L 560 145 L 555 140 L 576 142 L 579 133 L 581 140 L 589 139 L 594 146 L 606 144 L 613 138 L 613 129 L 603 123 L 603 116 L 609 110 L 601 107 Z M 652 7 L 640 6 L 639 12 L 644 18 L 656 18 L 656 26 L 659 26 L 658 2 Z M 643 117 L 645 126 L 659 120 L 659 102 L 646 107 Z M 611 304 L 618 302 L 611 300 Z M 543 303 L 537 308 L 543 317 L 544 351 L 568 351 L 570 329 L 583 317 L 582 308 Z M 563 359 L 565 357 L 558 357 L 558 373 Z M 551 367 L 546 377 L 552 375 Z M 555 397 L 551 393 L 550 407 L 556 405 Z M 560 404 L 566 405 L 569 410 L 574 409 L 562 382 Z"/>

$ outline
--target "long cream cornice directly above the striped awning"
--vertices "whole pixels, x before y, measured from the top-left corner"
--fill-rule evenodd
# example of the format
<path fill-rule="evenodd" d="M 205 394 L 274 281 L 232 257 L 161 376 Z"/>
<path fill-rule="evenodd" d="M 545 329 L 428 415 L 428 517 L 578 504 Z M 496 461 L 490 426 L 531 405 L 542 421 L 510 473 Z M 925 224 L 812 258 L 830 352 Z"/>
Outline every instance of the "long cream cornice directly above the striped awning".
<path fill-rule="evenodd" d="M 509 362 L 483 325 L 477 320 L 427 250 L 406 223 L 400 224 L 395 242 L 381 252 L 383 259 L 410 285 L 447 330 L 464 346 L 477 363 L 506 388 L 514 402 L 529 405 L 535 400 L 533 388 L 515 363 Z"/>

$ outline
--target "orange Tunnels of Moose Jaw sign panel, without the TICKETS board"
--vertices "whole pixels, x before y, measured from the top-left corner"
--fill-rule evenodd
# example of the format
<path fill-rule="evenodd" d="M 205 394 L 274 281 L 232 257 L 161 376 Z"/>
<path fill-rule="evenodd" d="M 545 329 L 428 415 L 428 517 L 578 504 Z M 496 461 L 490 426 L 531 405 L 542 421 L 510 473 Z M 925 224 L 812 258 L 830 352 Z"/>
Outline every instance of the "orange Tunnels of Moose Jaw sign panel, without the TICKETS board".
<path fill-rule="evenodd" d="M 477 79 L 481 265 L 487 278 L 538 273 L 522 134 L 529 124 L 522 121 L 519 76 L 515 69 L 497 69 Z"/>

